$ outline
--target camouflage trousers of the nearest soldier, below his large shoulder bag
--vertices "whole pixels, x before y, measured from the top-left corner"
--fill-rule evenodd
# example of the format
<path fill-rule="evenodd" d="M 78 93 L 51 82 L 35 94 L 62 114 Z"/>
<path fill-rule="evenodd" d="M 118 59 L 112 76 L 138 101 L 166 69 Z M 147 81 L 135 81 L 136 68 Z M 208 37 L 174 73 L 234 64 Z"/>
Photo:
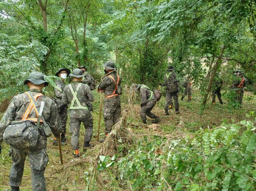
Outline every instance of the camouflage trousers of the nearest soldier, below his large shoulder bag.
<path fill-rule="evenodd" d="M 48 155 L 45 149 L 20 150 L 10 147 L 9 156 L 13 165 L 9 176 L 9 185 L 19 187 L 22 182 L 26 156 L 31 166 L 32 190 L 46 191 L 44 170 L 48 163 Z"/>

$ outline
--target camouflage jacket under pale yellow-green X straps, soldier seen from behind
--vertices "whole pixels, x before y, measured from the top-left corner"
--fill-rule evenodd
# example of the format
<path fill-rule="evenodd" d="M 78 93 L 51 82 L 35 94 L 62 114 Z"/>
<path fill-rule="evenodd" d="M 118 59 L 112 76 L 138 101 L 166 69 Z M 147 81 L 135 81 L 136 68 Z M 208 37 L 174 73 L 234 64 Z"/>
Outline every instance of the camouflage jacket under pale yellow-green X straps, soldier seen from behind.
<path fill-rule="evenodd" d="M 79 81 L 73 81 L 72 84 L 75 85 L 75 88 L 80 84 L 81 82 Z M 75 90 L 74 90 L 75 92 Z M 90 102 L 93 102 L 93 94 L 91 93 L 91 90 L 87 84 L 81 84 L 80 88 L 78 89 L 79 95 L 77 95 L 77 99 L 80 102 L 81 106 L 88 107 L 88 104 Z M 69 85 L 66 85 L 66 87 L 63 90 L 62 94 L 62 103 L 67 105 L 71 104 L 73 100 L 73 94 L 71 92 L 71 89 Z M 78 106 L 77 102 L 74 102 L 74 106 Z M 86 109 L 71 109 L 70 110 L 70 117 L 71 118 L 84 118 L 86 115 L 90 112 L 89 110 Z"/>

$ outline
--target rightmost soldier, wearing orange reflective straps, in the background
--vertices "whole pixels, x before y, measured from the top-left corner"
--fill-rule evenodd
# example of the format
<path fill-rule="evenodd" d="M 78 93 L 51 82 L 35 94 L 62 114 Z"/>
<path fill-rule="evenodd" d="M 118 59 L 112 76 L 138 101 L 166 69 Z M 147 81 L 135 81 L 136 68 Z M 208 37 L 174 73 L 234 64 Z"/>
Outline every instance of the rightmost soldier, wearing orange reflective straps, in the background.
<path fill-rule="evenodd" d="M 235 101 L 238 101 L 240 104 L 243 103 L 243 88 L 247 85 L 247 79 L 244 77 L 243 72 L 237 72 L 237 80 L 234 81 L 231 86 L 232 89 L 235 89 L 236 97 Z"/>

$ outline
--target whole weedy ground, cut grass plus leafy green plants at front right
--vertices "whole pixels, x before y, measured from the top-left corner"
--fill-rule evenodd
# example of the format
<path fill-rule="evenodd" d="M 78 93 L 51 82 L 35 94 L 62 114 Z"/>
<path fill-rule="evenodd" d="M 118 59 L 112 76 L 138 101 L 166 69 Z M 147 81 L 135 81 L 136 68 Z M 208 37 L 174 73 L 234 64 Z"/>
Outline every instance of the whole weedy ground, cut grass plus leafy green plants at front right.
<path fill-rule="evenodd" d="M 130 100 L 129 104 L 122 105 L 127 108 L 122 113 L 122 120 L 100 144 L 95 141 L 99 113 L 97 98 L 96 95 L 93 149 L 73 159 L 68 135 L 68 144 L 62 147 L 64 165 L 61 166 L 57 147 L 49 139 L 49 164 L 45 172 L 47 190 L 245 191 L 255 188 L 256 139 L 251 131 L 255 117 L 249 113 L 251 107 L 247 107 L 251 102 L 245 100 L 245 106 L 233 113 L 225 105 L 213 107 L 209 104 L 202 117 L 197 100 L 180 102 L 181 115 L 171 110 L 170 116 L 163 116 L 163 99 L 158 108 L 153 109 L 161 118 L 159 128 L 154 131 L 141 123 L 139 104 Z M 251 106 L 255 106 L 255 100 Z M 223 122 L 223 118 L 228 120 Z M 246 120 L 240 123 L 241 119 Z M 101 132 L 103 129 L 102 119 Z M 84 127 L 81 127 L 80 144 L 83 135 Z M 8 146 L 2 146 L 0 190 L 8 188 L 11 166 Z M 27 161 L 21 190 L 31 190 Z"/>

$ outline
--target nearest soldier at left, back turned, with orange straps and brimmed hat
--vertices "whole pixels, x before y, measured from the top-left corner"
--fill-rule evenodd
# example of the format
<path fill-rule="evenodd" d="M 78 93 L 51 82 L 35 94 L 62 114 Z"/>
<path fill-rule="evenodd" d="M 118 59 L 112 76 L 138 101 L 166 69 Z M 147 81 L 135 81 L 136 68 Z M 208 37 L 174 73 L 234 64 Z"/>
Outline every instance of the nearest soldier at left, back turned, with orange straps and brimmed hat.
<path fill-rule="evenodd" d="M 37 102 L 40 106 L 43 96 L 39 93 L 41 93 L 44 86 L 48 85 L 48 82 L 44 81 L 44 75 L 40 72 L 31 72 L 28 80 L 24 82 L 24 85 L 29 86 L 29 92 L 34 96 L 38 94 Z M 0 144 L 3 140 L 5 128 L 10 125 L 12 121 L 22 120 L 30 103 L 31 100 L 26 93 L 20 93 L 11 100 L 8 109 L 0 121 Z M 57 106 L 50 98 L 45 98 L 42 116 L 45 121 L 49 123 L 54 136 L 58 137 L 62 132 L 62 128 L 60 127 Z M 25 120 L 37 121 L 37 114 L 34 109 L 29 112 L 27 117 L 28 118 Z M 40 123 L 40 129 L 42 128 L 43 123 Z M 48 163 L 46 144 L 46 136 L 40 134 L 36 147 L 33 149 L 24 150 L 10 147 L 9 156 L 12 157 L 13 165 L 10 171 L 9 185 L 11 186 L 12 191 L 19 191 L 26 156 L 28 157 L 28 161 L 31 165 L 32 190 L 46 191 L 44 180 L 44 170 Z"/>

